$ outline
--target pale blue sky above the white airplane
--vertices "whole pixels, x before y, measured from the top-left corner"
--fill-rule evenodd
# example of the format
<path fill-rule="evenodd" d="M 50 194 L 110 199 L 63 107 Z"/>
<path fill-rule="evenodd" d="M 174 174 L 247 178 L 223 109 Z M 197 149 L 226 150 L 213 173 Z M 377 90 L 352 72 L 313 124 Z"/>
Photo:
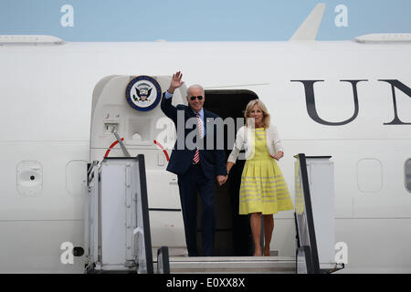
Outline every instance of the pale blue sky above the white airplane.
<path fill-rule="evenodd" d="M 66 41 L 283 41 L 318 3 L 327 5 L 319 40 L 411 33 L 411 0 L 0 0 L 0 35 L 52 35 Z M 67 10 L 61 12 L 64 5 L 73 8 L 72 18 Z M 347 26 L 335 24 L 341 16 L 334 12 L 337 5 L 347 9 Z M 73 26 L 67 26 L 70 20 Z"/>

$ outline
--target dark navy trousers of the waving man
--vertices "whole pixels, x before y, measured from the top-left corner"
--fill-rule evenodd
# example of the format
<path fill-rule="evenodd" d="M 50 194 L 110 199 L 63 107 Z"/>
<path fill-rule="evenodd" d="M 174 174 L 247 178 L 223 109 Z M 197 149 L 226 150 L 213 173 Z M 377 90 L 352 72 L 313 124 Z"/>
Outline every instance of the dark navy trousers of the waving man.
<path fill-rule="evenodd" d="M 213 255 L 216 230 L 216 178 L 209 179 L 198 164 L 192 164 L 188 172 L 178 174 L 178 187 L 183 209 L 185 243 L 189 256 L 197 251 L 197 191 L 203 203 L 201 214 L 202 249 L 205 256 Z"/>

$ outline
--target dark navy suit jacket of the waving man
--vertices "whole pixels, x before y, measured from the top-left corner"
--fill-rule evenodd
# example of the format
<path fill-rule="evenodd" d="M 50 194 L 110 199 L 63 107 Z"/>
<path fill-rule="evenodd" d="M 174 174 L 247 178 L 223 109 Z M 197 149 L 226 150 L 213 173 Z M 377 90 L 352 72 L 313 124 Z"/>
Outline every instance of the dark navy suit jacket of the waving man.
<path fill-rule="evenodd" d="M 195 155 L 195 149 L 190 150 L 187 148 L 185 138 L 190 132 L 196 130 L 196 124 L 192 129 L 185 129 L 185 122 L 190 118 L 195 118 L 195 113 L 189 106 L 185 106 L 183 104 L 179 104 L 174 107 L 172 105 L 172 99 L 173 98 L 165 99 L 163 94 L 161 103 L 163 113 L 174 121 L 175 128 L 177 129 L 177 141 L 175 141 L 174 150 L 171 154 L 167 171 L 174 172 L 175 174 L 184 174 L 193 163 L 193 158 Z M 181 124 L 183 119 L 181 119 L 180 124 L 177 123 L 178 111 L 181 113 L 180 117 L 184 117 L 183 125 Z M 200 147 L 200 165 L 208 179 L 215 178 L 216 175 L 227 175 L 226 153 L 224 150 L 216 150 L 216 125 L 209 120 L 210 118 L 216 119 L 219 117 L 215 113 L 204 109 L 205 136 L 202 141 L 199 141 L 200 145 L 204 145 L 203 149 Z M 214 131 L 210 129 L 211 127 L 214 127 Z M 207 147 L 207 138 L 210 139 L 212 138 L 211 136 L 214 136 L 213 147 Z M 193 141 L 195 141 L 195 139 Z M 179 150 L 177 148 L 178 145 L 184 145 L 184 148 Z"/>

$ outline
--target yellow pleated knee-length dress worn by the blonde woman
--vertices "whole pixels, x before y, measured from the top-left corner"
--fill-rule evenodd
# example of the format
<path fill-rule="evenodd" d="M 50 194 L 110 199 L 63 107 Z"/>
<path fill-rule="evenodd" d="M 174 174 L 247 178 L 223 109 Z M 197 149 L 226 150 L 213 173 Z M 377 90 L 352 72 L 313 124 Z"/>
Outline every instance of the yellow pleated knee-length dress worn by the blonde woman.
<path fill-rule="evenodd" d="M 239 214 L 277 214 L 292 210 L 287 183 L 277 161 L 269 156 L 266 130 L 254 131 L 254 151 L 244 165 L 241 175 Z"/>

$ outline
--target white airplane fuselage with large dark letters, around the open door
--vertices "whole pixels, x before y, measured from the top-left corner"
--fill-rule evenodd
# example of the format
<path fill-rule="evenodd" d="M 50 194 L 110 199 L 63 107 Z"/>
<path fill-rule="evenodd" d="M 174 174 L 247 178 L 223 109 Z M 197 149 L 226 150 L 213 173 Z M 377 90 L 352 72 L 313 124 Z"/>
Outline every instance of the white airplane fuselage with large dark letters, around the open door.
<path fill-rule="evenodd" d="M 81 258 L 61 263 L 60 245 L 84 240 L 86 188 L 79 172 L 95 160 L 93 90 L 112 75 L 158 77 L 181 70 L 187 85 L 247 89 L 267 105 L 283 142 L 279 166 L 292 197 L 293 155 L 332 156 L 335 242 L 348 246 L 345 271 L 409 273 L 409 68 L 410 43 L 0 46 L 0 272 L 82 272 Z M 40 169 L 41 183 L 19 178 L 26 169 Z M 149 185 L 149 201 L 150 192 Z M 294 256 L 293 213 L 276 214 L 275 226 L 272 248 Z"/>

